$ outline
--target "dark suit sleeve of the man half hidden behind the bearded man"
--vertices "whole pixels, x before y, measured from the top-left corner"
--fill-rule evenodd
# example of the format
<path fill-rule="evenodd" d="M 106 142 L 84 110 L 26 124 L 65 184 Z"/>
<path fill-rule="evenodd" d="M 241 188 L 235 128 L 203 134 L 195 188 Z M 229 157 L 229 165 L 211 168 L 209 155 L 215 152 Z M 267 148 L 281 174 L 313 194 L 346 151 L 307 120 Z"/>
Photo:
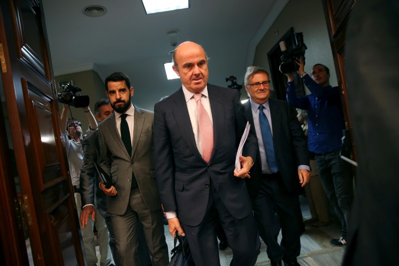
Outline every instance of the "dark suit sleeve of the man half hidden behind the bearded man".
<path fill-rule="evenodd" d="M 86 138 L 82 142 L 83 148 L 83 165 L 80 170 L 80 195 L 82 199 L 82 206 L 87 204 L 94 205 L 94 186 L 96 178 L 96 169 L 93 163 L 96 162 L 96 151 L 92 138 L 95 135 Z"/>

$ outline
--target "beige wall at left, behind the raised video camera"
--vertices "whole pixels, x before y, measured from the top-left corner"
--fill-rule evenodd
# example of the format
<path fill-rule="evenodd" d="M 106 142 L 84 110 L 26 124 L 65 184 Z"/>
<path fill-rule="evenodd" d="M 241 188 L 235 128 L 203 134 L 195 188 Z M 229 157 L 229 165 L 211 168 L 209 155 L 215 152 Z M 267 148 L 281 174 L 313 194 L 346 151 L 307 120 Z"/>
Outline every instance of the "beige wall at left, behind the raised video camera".
<path fill-rule="evenodd" d="M 100 76 L 97 72 L 93 70 L 87 70 L 82 72 L 76 72 L 66 75 L 60 75 L 54 77 L 55 84 L 57 86 L 57 92 L 60 92 L 62 89 L 59 88 L 58 83 L 63 81 L 72 80 L 73 85 L 82 89 L 80 94 L 88 94 L 90 96 L 90 104 L 89 107 L 94 114 L 94 104 L 101 98 L 107 97 L 105 95 L 105 87 L 104 82 L 101 80 Z M 62 104 L 59 104 L 60 113 L 62 111 Z M 89 127 L 89 122 L 87 120 L 86 114 L 80 108 L 71 107 L 72 115 L 77 120 L 82 122 L 82 129 L 85 132 Z M 71 117 L 68 112 L 68 118 Z"/>

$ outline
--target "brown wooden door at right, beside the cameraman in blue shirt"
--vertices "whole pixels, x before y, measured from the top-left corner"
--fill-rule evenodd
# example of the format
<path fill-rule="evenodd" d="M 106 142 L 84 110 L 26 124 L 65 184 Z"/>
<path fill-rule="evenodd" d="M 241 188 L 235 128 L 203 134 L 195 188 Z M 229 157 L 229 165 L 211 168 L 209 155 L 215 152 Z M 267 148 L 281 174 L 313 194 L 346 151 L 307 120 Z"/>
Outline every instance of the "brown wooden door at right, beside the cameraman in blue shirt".
<path fill-rule="evenodd" d="M 351 120 L 348 112 L 348 86 L 345 78 L 345 33 L 347 21 L 357 0 L 323 0 L 324 13 L 327 20 L 327 29 L 333 51 L 335 71 L 338 86 L 341 88 L 341 101 L 344 109 L 346 129 L 351 138 L 353 158 L 356 161 L 356 147 L 351 134 Z"/>

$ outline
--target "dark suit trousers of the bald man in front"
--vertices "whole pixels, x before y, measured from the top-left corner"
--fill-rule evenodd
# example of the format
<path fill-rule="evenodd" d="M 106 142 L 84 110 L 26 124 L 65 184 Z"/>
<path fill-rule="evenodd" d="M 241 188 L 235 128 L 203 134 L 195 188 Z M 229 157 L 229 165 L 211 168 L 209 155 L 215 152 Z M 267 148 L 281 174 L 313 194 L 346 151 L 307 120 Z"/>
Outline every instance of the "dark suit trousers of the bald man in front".
<path fill-rule="evenodd" d="M 260 253 L 260 241 L 252 214 L 241 220 L 234 218 L 221 202 L 211 183 L 204 219 L 198 226 L 183 225 L 196 266 L 220 265 L 216 239 L 218 221 L 233 252 L 230 266 L 255 265 Z"/>

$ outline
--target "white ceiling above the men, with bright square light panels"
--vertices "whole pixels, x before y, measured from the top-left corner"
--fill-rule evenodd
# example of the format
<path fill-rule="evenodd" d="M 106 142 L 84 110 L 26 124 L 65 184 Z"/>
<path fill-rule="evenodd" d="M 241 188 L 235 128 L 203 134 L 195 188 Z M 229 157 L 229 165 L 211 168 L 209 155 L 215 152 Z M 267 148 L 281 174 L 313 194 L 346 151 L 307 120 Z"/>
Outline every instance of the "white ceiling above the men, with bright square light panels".
<path fill-rule="evenodd" d="M 133 102 L 150 110 L 181 86 L 164 70 L 171 43 L 191 40 L 205 48 L 210 83 L 227 86 L 230 75 L 242 83 L 257 43 L 287 2 L 190 0 L 188 9 L 146 14 L 141 0 L 42 0 L 54 75 L 93 69 L 104 79 L 125 72 L 135 88 Z M 82 13 L 88 5 L 107 13 L 88 17 Z M 168 36 L 171 29 L 180 33 Z"/>

